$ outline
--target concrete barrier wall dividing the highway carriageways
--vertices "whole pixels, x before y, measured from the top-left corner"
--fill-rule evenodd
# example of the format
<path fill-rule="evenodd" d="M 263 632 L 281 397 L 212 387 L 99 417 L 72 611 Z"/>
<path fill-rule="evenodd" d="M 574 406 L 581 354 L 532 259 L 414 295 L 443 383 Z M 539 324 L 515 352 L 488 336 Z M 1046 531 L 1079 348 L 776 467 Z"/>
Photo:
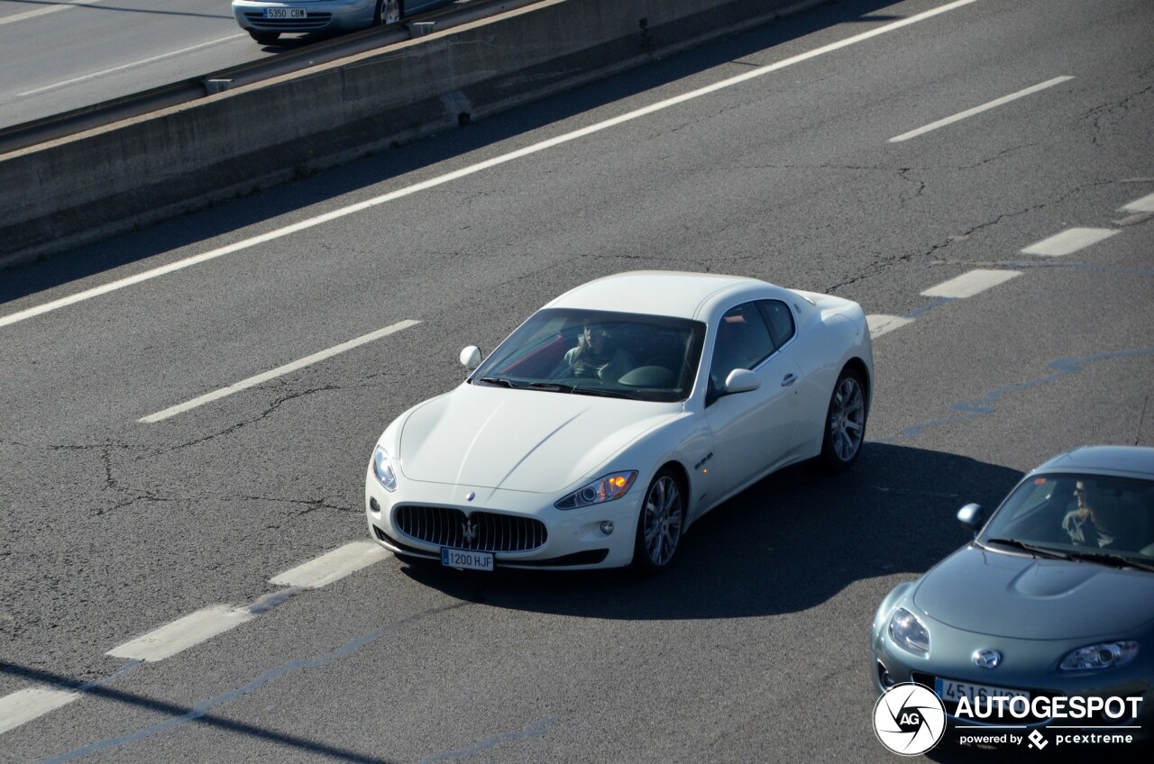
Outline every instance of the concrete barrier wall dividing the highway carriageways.
<path fill-rule="evenodd" d="M 819 0 L 550 0 L 0 156 L 0 267 L 284 182 Z"/>

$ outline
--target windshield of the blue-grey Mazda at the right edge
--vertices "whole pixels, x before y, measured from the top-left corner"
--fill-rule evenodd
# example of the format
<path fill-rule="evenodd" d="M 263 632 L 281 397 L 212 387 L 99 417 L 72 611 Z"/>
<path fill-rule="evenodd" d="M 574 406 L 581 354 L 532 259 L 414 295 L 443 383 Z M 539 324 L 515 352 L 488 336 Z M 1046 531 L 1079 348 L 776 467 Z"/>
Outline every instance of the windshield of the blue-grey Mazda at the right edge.
<path fill-rule="evenodd" d="M 1036 475 L 1010 494 L 979 541 L 1149 569 L 1154 563 L 1154 480 Z"/>

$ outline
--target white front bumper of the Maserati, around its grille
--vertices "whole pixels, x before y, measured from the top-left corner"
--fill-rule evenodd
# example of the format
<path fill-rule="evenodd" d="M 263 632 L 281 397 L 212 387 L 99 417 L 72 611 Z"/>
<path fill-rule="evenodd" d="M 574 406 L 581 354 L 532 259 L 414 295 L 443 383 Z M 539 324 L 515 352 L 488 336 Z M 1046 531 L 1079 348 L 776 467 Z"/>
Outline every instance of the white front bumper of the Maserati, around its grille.
<path fill-rule="evenodd" d="M 432 482 L 402 481 L 397 490 L 390 492 L 377 481 L 372 464 L 365 477 L 365 517 L 369 537 L 400 557 L 424 559 L 440 562 L 442 546 L 450 548 L 493 552 L 497 568 L 589 570 L 594 568 L 620 568 L 632 561 L 634 539 L 640 502 L 642 486 L 616 501 L 593 504 L 582 509 L 561 510 L 553 505 L 560 495 L 534 494 L 479 486 L 462 486 Z M 470 494 L 473 499 L 466 499 Z M 514 530 L 508 534 L 515 542 L 499 542 L 485 548 L 463 541 L 458 529 L 449 527 L 437 533 L 407 533 L 412 524 L 402 524 L 398 518 L 405 508 L 429 508 L 437 510 L 437 517 L 466 518 L 484 514 L 492 519 L 508 518 Z M 612 532 L 606 533 L 605 523 L 612 523 Z M 539 542 L 525 542 L 519 530 L 539 524 L 544 537 Z M 444 539 L 442 542 L 433 538 Z M 482 534 L 482 538 L 488 538 Z M 526 548 L 529 547 L 529 548 Z"/>

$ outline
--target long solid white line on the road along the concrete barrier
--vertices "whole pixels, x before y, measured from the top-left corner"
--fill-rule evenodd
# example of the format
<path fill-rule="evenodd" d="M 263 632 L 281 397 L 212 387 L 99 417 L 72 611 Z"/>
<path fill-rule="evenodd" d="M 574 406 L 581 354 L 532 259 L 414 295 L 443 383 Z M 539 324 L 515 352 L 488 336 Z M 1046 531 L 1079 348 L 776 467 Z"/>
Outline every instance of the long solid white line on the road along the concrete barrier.
<path fill-rule="evenodd" d="M 587 135 L 593 135 L 594 133 L 600 133 L 601 130 L 608 129 L 610 127 L 616 127 L 617 125 L 629 122 L 640 117 L 645 117 L 647 114 L 652 114 L 654 112 L 669 108 L 670 106 L 676 106 L 688 100 L 692 100 L 694 98 L 699 98 L 702 96 L 706 96 L 709 93 L 717 92 L 719 90 L 725 90 L 726 88 L 732 88 L 733 85 L 745 82 L 747 80 L 760 77 L 766 74 L 785 69 L 786 67 L 794 66 L 795 63 L 801 63 L 803 61 L 808 61 L 810 59 L 815 59 L 820 55 L 839 51 L 844 47 L 856 45 L 857 43 L 862 43 L 874 37 L 878 37 L 879 35 L 885 35 L 886 32 L 891 32 L 901 29 L 904 27 L 909 27 L 911 24 L 916 24 L 919 22 L 932 18 L 934 16 L 938 16 L 944 13 L 949 13 L 962 6 L 968 6 L 976 1 L 977 0 L 954 0 L 954 2 L 946 3 L 938 8 L 932 8 L 924 13 L 909 16 L 908 18 L 902 18 L 891 24 L 886 24 L 884 27 L 878 27 L 877 29 L 872 29 L 870 31 L 854 35 L 853 37 L 847 37 L 846 39 L 840 40 L 838 43 L 831 43 L 830 45 L 824 45 L 807 53 L 801 53 L 793 58 L 784 59 L 781 61 L 778 61 L 777 63 L 770 63 L 764 67 L 750 69 L 749 72 L 745 72 L 734 77 L 729 77 L 728 80 L 722 80 L 712 85 L 698 88 L 697 90 L 692 90 L 681 96 L 675 96 L 673 98 L 668 98 L 666 100 L 651 104 L 643 108 L 637 108 L 627 114 L 614 117 L 613 119 L 607 119 L 602 122 L 598 122 L 597 125 L 590 125 L 589 127 L 584 127 L 579 130 L 565 133 L 564 135 L 559 135 L 547 141 L 541 141 L 540 143 L 535 143 L 533 145 L 518 149 L 516 151 L 510 151 L 509 153 L 502 155 L 500 157 L 494 157 L 485 162 L 480 162 L 469 167 L 462 167 L 460 170 L 456 170 L 454 172 L 439 175 L 436 178 L 430 178 L 429 180 L 414 183 L 406 188 L 400 188 L 394 192 L 389 192 L 388 194 L 382 194 L 381 196 L 375 196 L 373 199 L 365 200 L 364 202 L 358 202 L 357 204 L 350 204 L 349 207 L 344 207 L 339 210 L 332 210 L 331 212 L 325 212 L 324 215 L 319 215 L 316 217 L 308 218 L 307 220 L 301 220 L 299 223 L 294 223 L 283 229 L 277 229 L 276 231 L 269 231 L 268 233 L 262 233 L 261 235 L 252 237 L 249 239 L 245 239 L 243 241 L 237 241 L 226 247 L 219 247 L 218 249 L 212 249 L 210 252 L 205 252 L 200 255 L 186 257 L 185 260 L 180 260 L 174 263 L 170 263 L 167 265 L 162 265 L 160 268 L 153 268 L 152 270 L 143 271 L 141 274 L 136 274 L 135 276 L 129 276 L 127 278 L 122 278 L 115 282 L 110 282 L 108 284 L 104 284 L 102 286 L 96 286 L 90 290 L 84 290 L 83 292 L 77 292 L 76 294 L 60 298 L 59 300 L 53 300 L 51 302 L 45 302 L 44 305 L 38 305 L 36 307 L 27 308 L 24 310 L 20 310 L 18 313 L 13 313 L 10 315 L 0 317 L 0 327 L 6 327 L 8 324 L 17 323 L 20 321 L 31 319 L 32 316 L 40 315 L 42 313 L 57 310 L 65 306 L 75 305 L 76 302 L 82 302 L 84 300 L 92 299 L 93 297 L 106 294 L 108 292 L 113 292 L 115 290 L 130 286 L 133 284 L 140 284 L 141 282 L 147 282 L 149 279 L 157 278 L 158 276 L 172 274 L 174 271 L 188 268 L 190 265 L 196 265 L 198 263 L 203 263 L 209 260 L 215 260 L 217 257 L 232 254 L 234 252 L 240 252 L 241 249 L 248 249 L 249 247 L 255 247 L 257 245 L 265 244 L 268 241 L 273 241 L 282 237 L 286 237 L 292 233 L 297 233 L 299 231 L 305 231 L 306 229 L 312 229 L 314 226 L 321 225 L 322 223 L 329 223 L 330 220 L 336 220 L 338 218 L 361 212 L 369 208 L 377 207 L 379 204 L 384 204 L 387 202 L 398 200 L 403 196 L 409 196 L 418 192 L 422 192 L 429 188 L 434 188 L 436 186 L 451 182 L 454 180 L 458 180 L 460 178 L 465 178 L 467 175 L 475 174 L 484 170 L 489 170 L 490 167 L 502 165 L 507 162 L 512 162 L 514 159 L 527 157 L 530 155 L 545 151 L 546 149 L 552 149 L 553 147 L 561 145 L 563 143 L 569 143 L 571 141 L 583 138 Z"/>

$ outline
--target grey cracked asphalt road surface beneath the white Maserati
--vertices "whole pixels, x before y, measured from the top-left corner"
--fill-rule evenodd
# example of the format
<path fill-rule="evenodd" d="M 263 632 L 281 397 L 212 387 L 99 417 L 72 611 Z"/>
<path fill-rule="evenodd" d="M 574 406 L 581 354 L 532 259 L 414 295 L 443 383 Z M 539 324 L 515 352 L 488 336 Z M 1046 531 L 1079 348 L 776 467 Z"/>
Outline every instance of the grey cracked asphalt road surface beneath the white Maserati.
<path fill-rule="evenodd" d="M 1152 39 L 1145 0 L 839 2 L 0 274 L 0 759 L 896 758 L 882 597 L 961 504 L 1154 445 Z M 347 546 L 463 346 L 650 268 L 860 301 L 855 469 L 763 480 L 651 579 Z"/>

